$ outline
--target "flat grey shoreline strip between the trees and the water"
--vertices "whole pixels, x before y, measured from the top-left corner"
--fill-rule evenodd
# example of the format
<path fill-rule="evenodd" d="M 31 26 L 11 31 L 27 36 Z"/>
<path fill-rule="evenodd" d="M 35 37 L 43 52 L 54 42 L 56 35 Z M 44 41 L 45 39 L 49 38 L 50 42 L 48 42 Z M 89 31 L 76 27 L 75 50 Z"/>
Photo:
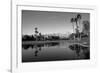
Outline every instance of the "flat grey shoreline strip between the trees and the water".
<path fill-rule="evenodd" d="M 89 47 L 90 43 L 89 40 L 55 40 L 55 41 L 22 41 L 22 44 L 27 45 L 27 44 L 46 44 L 46 43 L 60 43 L 60 42 L 68 42 L 71 44 L 79 44 L 82 46 L 87 46 Z"/>

